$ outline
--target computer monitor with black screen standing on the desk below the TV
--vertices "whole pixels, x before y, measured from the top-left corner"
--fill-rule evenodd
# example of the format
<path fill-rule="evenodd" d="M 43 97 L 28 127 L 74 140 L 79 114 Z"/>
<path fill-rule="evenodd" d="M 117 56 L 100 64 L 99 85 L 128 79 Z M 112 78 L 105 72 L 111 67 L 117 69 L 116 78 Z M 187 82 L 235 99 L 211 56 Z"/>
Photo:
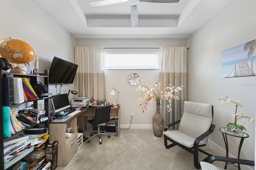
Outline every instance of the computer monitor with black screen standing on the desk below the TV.
<path fill-rule="evenodd" d="M 58 94 L 52 96 L 52 105 L 55 113 L 70 108 L 71 106 L 68 100 L 68 94 Z"/>

